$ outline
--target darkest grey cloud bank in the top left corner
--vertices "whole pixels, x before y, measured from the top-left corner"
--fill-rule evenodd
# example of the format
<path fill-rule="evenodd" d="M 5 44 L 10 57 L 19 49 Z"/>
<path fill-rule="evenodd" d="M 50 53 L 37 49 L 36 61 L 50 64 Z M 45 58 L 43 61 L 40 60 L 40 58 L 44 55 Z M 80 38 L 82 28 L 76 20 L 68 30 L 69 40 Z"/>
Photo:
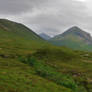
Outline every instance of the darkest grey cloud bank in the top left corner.
<path fill-rule="evenodd" d="M 39 0 L 43 2 L 43 0 Z M 38 0 L 0 0 L 0 13 L 20 14 L 30 11 L 39 3 Z"/>

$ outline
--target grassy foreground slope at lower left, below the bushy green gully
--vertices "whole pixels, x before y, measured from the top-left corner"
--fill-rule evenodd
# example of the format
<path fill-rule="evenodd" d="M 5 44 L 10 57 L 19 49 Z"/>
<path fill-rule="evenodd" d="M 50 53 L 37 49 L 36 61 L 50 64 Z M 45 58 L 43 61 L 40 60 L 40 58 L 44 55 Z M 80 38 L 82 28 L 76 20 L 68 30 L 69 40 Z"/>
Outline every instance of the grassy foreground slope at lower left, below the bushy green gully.
<path fill-rule="evenodd" d="M 72 92 L 35 74 L 17 59 L 0 58 L 0 92 Z"/>

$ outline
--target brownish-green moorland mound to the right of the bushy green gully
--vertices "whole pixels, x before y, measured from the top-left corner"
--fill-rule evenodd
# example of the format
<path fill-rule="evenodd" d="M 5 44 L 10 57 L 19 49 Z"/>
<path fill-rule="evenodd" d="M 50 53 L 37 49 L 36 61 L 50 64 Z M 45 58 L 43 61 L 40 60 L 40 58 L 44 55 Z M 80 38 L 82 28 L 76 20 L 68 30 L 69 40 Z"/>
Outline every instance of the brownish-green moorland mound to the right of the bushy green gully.
<path fill-rule="evenodd" d="M 63 75 L 67 76 L 68 74 L 75 80 L 75 84 L 78 86 L 77 92 L 92 91 L 92 53 L 72 51 L 67 48 L 49 47 L 38 50 L 34 54 L 34 57 L 54 67 L 54 69 L 63 73 Z M 57 79 L 57 76 L 54 77 Z M 73 92 L 76 91 L 73 90 Z"/>

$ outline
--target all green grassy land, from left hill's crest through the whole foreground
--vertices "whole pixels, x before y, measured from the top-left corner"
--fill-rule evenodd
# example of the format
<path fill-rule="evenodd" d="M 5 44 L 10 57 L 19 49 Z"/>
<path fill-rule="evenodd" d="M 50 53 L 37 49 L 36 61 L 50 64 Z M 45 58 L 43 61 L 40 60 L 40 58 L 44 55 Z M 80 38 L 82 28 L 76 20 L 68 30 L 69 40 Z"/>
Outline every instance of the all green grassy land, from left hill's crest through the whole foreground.
<path fill-rule="evenodd" d="M 48 44 L 0 20 L 0 92 L 92 92 L 92 53 Z"/>

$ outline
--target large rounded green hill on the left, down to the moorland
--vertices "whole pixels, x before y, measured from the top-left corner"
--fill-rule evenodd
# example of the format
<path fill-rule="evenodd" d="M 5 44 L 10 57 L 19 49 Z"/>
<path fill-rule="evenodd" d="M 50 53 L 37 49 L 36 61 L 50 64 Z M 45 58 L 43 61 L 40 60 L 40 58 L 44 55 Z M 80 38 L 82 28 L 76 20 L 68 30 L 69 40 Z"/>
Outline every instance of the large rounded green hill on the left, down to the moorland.
<path fill-rule="evenodd" d="M 20 52 L 23 54 L 23 51 L 29 53 L 29 49 L 41 47 L 44 43 L 45 40 L 25 25 L 0 19 L 0 48 L 2 53 Z"/>

